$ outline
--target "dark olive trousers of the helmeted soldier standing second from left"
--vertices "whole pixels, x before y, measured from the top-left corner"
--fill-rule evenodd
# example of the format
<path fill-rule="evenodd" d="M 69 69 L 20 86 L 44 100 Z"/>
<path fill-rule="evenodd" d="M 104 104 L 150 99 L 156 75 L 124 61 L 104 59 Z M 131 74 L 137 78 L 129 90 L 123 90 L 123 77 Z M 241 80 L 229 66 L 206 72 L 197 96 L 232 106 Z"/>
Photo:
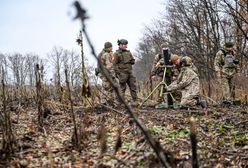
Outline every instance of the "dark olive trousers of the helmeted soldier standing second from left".
<path fill-rule="evenodd" d="M 121 72 L 118 74 L 118 79 L 123 96 L 125 97 L 125 92 L 128 85 L 132 99 L 136 101 L 138 99 L 136 78 L 133 76 L 132 72 Z"/>

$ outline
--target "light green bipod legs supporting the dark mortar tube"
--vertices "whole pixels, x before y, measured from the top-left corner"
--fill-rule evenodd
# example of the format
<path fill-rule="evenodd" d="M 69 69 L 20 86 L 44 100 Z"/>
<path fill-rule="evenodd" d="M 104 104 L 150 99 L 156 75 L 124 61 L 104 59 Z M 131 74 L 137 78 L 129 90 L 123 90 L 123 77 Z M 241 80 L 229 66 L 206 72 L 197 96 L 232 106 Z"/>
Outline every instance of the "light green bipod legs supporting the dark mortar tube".
<path fill-rule="evenodd" d="M 162 97 L 164 94 L 167 96 L 167 99 L 164 100 L 163 103 L 155 106 L 155 108 L 168 108 L 169 107 L 169 98 L 172 99 L 173 104 L 176 103 L 175 98 L 172 96 L 171 92 L 165 92 L 164 93 L 164 88 L 167 87 L 167 83 L 166 83 L 166 73 L 167 73 L 167 68 L 172 68 L 173 66 L 171 65 L 166 65 L 166 66 L 162 66 L 162 68 L 164 68 L 164 72 L 163 72 L 163 79 L 162 81 L 157 84 L 157 86 L 152 90 L 152 92 L 145 98 L 145 100 L 140 104 L 140 107 L 142 107 L 144 105 L 144 103 L 151 97 L 151 95 L 159 88 L 160 88 L 160 92 L 159 92 L 159 96 Z M 169 95 L 168 95 L 169 94 Z M 169 97 L 170 96 L 170 97 Z"/>

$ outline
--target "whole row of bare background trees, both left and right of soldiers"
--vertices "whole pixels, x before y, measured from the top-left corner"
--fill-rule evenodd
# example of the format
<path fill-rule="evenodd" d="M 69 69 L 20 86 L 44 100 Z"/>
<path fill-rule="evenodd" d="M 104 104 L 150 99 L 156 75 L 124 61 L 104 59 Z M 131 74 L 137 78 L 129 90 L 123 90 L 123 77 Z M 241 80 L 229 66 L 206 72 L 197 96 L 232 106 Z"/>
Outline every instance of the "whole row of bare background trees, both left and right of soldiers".
<path fill-rule="evenodd" d="M 248 76 L 248 4 L 245 0 L 165 0 L 163 6 L 160 17 L 144 27 L 134 52 L 138 81 L 149 79 L 154 56 L 161 52 L 163 43 L 171 53 L 192 57 L 201 79 L 211 81 L 216 52 L 225 42 L 233 41 L 242 72 Z M 76 51 L 55 46 L 45 59 L 34 53 L 0 53 L 0 68 L 5 73 L 6 83 L 15 86 L 35 86 L 35 64 L 43 68 L 46 83 L 65 85 L 64 70 L 67 69 L 71 86 L 81 86 L 80 58 Z M 96 79 L 94 67 L 88 64 L 86 67 L 92 83 Z"/>

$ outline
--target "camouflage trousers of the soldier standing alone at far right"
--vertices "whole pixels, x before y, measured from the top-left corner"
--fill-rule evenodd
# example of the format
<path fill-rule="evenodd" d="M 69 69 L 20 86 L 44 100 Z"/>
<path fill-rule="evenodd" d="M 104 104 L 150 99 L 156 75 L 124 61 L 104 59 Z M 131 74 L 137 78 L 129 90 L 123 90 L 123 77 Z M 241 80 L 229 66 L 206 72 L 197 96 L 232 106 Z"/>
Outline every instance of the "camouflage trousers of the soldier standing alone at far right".
<path fill-rule="evenodd" d="M 222 88 L 222 99 L 232 100 L 232 95 L 234 93 L 234 78 L 233 77 L 222 77 L 221 78 L 221 88 Z"/>

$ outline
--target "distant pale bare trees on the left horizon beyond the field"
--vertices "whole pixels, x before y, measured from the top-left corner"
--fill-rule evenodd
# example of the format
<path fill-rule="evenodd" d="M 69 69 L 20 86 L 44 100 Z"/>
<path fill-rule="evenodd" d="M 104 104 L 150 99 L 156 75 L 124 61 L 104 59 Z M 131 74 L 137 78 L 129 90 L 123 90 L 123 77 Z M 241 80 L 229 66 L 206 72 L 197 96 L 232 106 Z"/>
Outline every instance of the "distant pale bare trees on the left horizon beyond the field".
<path fill-rule="evenodd" d="M 81 62 L 79 52 L 58 46 L 54 46 L 45 58 L 35 53 L 0 53 L 0 68 L 5 73 L 5 82 L 14 86 L 35 86 L 36 64 L 40 65 L 47 84 L 63 84 L 64 70 L 67 69 L 71 85 L 81 85 Z M 88 65 L 88 60 L 86 66 L 92 76 L 93 67 Z"/>

